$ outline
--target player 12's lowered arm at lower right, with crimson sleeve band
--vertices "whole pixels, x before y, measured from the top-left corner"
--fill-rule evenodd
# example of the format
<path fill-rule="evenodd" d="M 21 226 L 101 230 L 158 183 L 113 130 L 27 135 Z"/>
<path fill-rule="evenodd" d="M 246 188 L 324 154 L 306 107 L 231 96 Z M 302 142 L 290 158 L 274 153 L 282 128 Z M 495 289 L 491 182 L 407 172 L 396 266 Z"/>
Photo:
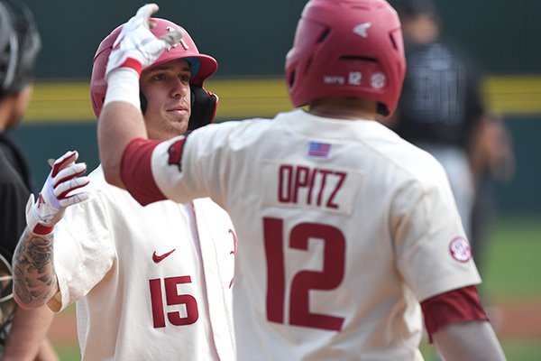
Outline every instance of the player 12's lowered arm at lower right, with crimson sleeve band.
<path fill-rule="evenodd" d="M 445 360 L 505 360 L 475 286 L 421 303 L 430 341 Z"/>

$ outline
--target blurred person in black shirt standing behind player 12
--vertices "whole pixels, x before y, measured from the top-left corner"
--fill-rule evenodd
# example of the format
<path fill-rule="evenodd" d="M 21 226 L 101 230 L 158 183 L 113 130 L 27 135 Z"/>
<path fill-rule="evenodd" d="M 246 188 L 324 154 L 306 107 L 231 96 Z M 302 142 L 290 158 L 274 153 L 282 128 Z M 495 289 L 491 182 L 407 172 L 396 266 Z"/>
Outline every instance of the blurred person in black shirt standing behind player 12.
<path fill-rule="evenodd" d="M 432 0 L 390 3 L 402 23 L 408 68 L 399 106 L 387 125 L 444 165 L 482 273 L 495 208 L 491 184 L 509 180 L 514 172 L 511 136 L 501 116 L 485 108 L 477 64 L 442 37 Z"/>

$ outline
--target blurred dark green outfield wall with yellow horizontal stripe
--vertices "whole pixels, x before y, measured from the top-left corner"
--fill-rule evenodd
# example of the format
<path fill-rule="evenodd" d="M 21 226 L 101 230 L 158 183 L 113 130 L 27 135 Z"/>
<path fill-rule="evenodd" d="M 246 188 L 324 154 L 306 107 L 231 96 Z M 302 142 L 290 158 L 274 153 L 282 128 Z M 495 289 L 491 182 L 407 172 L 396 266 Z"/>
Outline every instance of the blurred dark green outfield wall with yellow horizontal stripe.
<path fill-rule="evenodd" d="M 392 3 L 392 0 L 390 1 Z M 435 0 L 444 34 L 463 46 L 486 75 L 488 107 L 504 116 L 515 143 L 517 173 L 496 187 L 504 211 L 541 211 L 541 1 Z M 27 0 L 41 32 L 30 109 L 15 140 L 28 154 L 34 178 L 45 159 L 78 149 L 97 164 L 96 123 L 88 96 L 99 42 L 131 17 L 133 0 Z M 157 16 L 183 25 L 219 69 L 206 83 L 220 97 L 218 121 L 272 116 L 289 110 L 283 60 L 304 0 L 162 0 Z"/>

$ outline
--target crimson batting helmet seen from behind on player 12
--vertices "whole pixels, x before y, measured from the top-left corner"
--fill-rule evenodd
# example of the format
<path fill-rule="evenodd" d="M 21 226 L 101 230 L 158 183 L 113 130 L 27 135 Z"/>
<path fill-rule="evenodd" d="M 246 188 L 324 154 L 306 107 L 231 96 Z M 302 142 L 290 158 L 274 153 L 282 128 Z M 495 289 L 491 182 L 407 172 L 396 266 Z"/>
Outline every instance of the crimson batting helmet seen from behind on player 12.
<path fill-rule="evenodd" d="M 307 3 L 286 57 L 293 106 L 323 97 L 364 97 L 388 116 L 405 73 L 399 16 L 385 0 Z"/>

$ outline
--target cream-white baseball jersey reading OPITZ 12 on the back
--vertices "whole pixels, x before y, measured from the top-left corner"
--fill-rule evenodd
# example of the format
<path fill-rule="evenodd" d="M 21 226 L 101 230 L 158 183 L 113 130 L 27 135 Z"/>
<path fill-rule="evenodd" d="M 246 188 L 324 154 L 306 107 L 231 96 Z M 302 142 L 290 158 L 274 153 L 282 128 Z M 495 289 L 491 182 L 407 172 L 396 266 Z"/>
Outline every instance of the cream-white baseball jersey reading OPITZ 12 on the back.
<path fill-rule="evenodd" d="M 384 125 L 298 109 L 182 142 L 152 174 L 233 219 L 239 360 L 422 359 L 418 302 L 481 282 L 445 171 Z"/>

